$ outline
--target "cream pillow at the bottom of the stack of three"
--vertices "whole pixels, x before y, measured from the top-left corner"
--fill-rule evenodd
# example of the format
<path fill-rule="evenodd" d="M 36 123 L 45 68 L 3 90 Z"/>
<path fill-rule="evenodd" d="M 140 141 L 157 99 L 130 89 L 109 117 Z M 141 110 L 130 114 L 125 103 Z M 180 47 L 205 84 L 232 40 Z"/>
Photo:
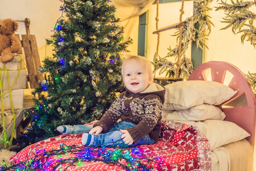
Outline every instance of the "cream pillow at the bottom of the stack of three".
<path fill-rule="evenodd" d="M 234 143 L 250 136 L 244 129 L 237 124 L 224 120 L 205 120 L 205 121 L 177 121 L 188 125 L 196 126 L 208 139 L 210 148 L 215 149 L 222 145 Z"/>

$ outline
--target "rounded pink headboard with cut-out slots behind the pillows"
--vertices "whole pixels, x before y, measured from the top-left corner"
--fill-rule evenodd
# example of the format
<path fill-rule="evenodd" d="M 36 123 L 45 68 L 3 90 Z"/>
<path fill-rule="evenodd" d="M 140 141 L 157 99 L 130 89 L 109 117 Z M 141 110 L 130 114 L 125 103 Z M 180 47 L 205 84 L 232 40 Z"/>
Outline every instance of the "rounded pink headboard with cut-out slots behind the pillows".
<path fill-rule="evenodd" d="M 247 140 L 254 146 L 256 100 L 246 76 L 230 63 L 210 61 L 198 66 L 188 80 L 208 80 L 224 84 L 227 74 L 233 75 L 233 78 L 225 85 L 236 90 L 237 93 L 221 104 L 220 108 L 226 115 L 226 121 L 237 124 L 250 134 Z M 211 80 L 208 79 L 210 76 Z"/>

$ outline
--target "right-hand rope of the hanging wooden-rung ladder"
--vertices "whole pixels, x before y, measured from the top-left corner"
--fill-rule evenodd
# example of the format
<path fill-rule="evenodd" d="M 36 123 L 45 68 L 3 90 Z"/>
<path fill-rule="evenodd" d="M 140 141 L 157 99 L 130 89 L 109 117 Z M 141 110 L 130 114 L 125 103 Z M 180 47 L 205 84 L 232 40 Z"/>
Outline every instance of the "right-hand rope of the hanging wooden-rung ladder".
<path fill-rule="evenodd" d="M 182 1 L 181 1 L 180 23 L 182 22 L 182 15 L 184 14 L 184 11 L 183 11 L 183 9 L 184 9 L 184 1 L 185 1 L 185 0 L 182 0 Z M 178 71 L 180 70 L 182 29 L 183 29 L 183 26 L 181 26 L 181 27 L 179 28 L 179 30 L 180 30 L 180 39 L 178 40 L 179 42 L 178 42 L 178 59 L 177 59 L 177 62 L 176 62 L 176 66 L 177 66 L 177 68 L 176 68 L 176 78 L 178 78 L 178 76 L 179 76 Z"/>

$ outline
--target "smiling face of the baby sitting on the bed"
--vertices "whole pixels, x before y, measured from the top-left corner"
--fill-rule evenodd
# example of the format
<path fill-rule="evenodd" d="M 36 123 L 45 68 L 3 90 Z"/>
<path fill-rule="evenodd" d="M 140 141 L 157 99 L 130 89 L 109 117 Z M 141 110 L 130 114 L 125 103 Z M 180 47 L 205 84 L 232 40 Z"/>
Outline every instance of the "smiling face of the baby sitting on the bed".
<path fill-rule="evenodd" d="M 125 87 L 133 93 L 144 91 L 149 86 L 152 79 L 145 64 L 141 64 L 134 59 L 128 60 L 124 64 L 123 77 Z"/>

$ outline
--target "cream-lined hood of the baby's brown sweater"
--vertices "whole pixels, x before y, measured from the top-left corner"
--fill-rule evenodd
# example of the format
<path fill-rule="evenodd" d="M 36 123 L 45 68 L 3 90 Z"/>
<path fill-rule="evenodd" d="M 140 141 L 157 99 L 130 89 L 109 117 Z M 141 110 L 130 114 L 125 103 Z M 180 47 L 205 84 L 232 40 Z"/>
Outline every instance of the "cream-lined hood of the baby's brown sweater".
<path fill-rule="evenodd" d="M 129 91 L 129 89 L 127 89 L 127 88 L 126 88 L 126 90 L 129 93 L 133 93 L 133 92 Z M 155 93 L 156 95 L 159 95 L 161 100 L 162 100 L 162 103 L 164 104 L 164 95 L 165 95 L 165 87 L 164 86 L 162 86 L 159 83 L 152 83 L 143 92 L 140 92 L 140 93 L 137 93 L 137 94 L 145 95 L 145 94 L 148 94 L 148 93 L 150 93 L 150 94 Z"/>

